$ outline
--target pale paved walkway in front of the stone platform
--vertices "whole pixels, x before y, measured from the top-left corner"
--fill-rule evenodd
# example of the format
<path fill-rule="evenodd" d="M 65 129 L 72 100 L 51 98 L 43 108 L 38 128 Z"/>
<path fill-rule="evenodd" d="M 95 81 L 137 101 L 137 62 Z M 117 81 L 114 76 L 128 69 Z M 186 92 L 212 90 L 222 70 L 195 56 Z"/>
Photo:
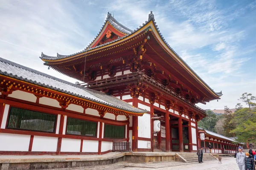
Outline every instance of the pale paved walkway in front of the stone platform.
<path fill-rule="evenodd" d="M 228 157 L 223 158 L 222 164 L 218 164 L 217 160 L 205 161 L 202 164 L 175 161 L 153 163 L 133 163 L 124 161 L 111 165 L 67 168 L 65 170 L 239 170 L 239 168 L 236 164 L 236 159 Z"/>

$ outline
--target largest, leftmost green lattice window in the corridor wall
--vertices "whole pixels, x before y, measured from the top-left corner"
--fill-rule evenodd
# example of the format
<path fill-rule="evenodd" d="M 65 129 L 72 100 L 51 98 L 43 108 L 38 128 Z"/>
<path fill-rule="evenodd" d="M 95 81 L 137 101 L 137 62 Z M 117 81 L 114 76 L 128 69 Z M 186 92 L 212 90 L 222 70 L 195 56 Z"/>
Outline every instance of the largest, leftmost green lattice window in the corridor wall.
<path fill-rule="evenodd" d="M 11 107 L 7 128 L 54 133 L 56 119 L 53 114 Z"/>

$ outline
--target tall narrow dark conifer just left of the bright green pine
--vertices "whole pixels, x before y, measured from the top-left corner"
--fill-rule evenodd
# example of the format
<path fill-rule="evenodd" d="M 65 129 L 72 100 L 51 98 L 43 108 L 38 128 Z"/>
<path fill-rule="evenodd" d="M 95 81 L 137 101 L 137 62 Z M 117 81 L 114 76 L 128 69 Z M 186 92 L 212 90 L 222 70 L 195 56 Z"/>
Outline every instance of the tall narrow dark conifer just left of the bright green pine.
<path fill-rule="evenodd" d="M 234 113 L 230 111 L 230 108 L 227 106 L 224 106 L 224 135 L 227 137 L 233 137 L 235 136 L 235 133 L 230 133 L 231 130 L 234 130 L 236 128 L 236 124 L 234 122 L 231 122 L 231 120 L 235 117 Z"/>

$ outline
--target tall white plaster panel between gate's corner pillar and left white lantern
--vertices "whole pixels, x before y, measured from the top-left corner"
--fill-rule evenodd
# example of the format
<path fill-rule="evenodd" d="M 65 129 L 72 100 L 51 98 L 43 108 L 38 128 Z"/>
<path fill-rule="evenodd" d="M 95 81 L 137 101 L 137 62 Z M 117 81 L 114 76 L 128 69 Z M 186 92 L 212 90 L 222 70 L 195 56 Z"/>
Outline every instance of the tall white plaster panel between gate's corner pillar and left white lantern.
<path fill-rule="evenodd" d="M 143 116 L 138 116 L 138 137 L 151 138 L 150 129 L 150 114 L 143 114 Z"/>

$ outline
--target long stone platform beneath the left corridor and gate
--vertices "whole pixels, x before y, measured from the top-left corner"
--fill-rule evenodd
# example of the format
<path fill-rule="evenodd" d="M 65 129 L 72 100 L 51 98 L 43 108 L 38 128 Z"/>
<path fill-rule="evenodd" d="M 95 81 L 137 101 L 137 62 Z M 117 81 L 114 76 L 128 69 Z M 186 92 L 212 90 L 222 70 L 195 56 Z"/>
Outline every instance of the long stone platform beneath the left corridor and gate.
<path fill-rule="evenodd" d="M 189 157 L 192 156 L 193 158 Z M 0 155 L 0 170 L 46 170 L 76 167 L 91 167 L 114 164 L 121 161 L 149 162 L 196 162 L 196 153 L 175 152 L 111 152 L 104 155 L 37 155 L 13 156 Z M 205 160 L 216 160 L 214 156 L 205 155 Z M 188 159 L 188 160 L 186 160 Z"/>

